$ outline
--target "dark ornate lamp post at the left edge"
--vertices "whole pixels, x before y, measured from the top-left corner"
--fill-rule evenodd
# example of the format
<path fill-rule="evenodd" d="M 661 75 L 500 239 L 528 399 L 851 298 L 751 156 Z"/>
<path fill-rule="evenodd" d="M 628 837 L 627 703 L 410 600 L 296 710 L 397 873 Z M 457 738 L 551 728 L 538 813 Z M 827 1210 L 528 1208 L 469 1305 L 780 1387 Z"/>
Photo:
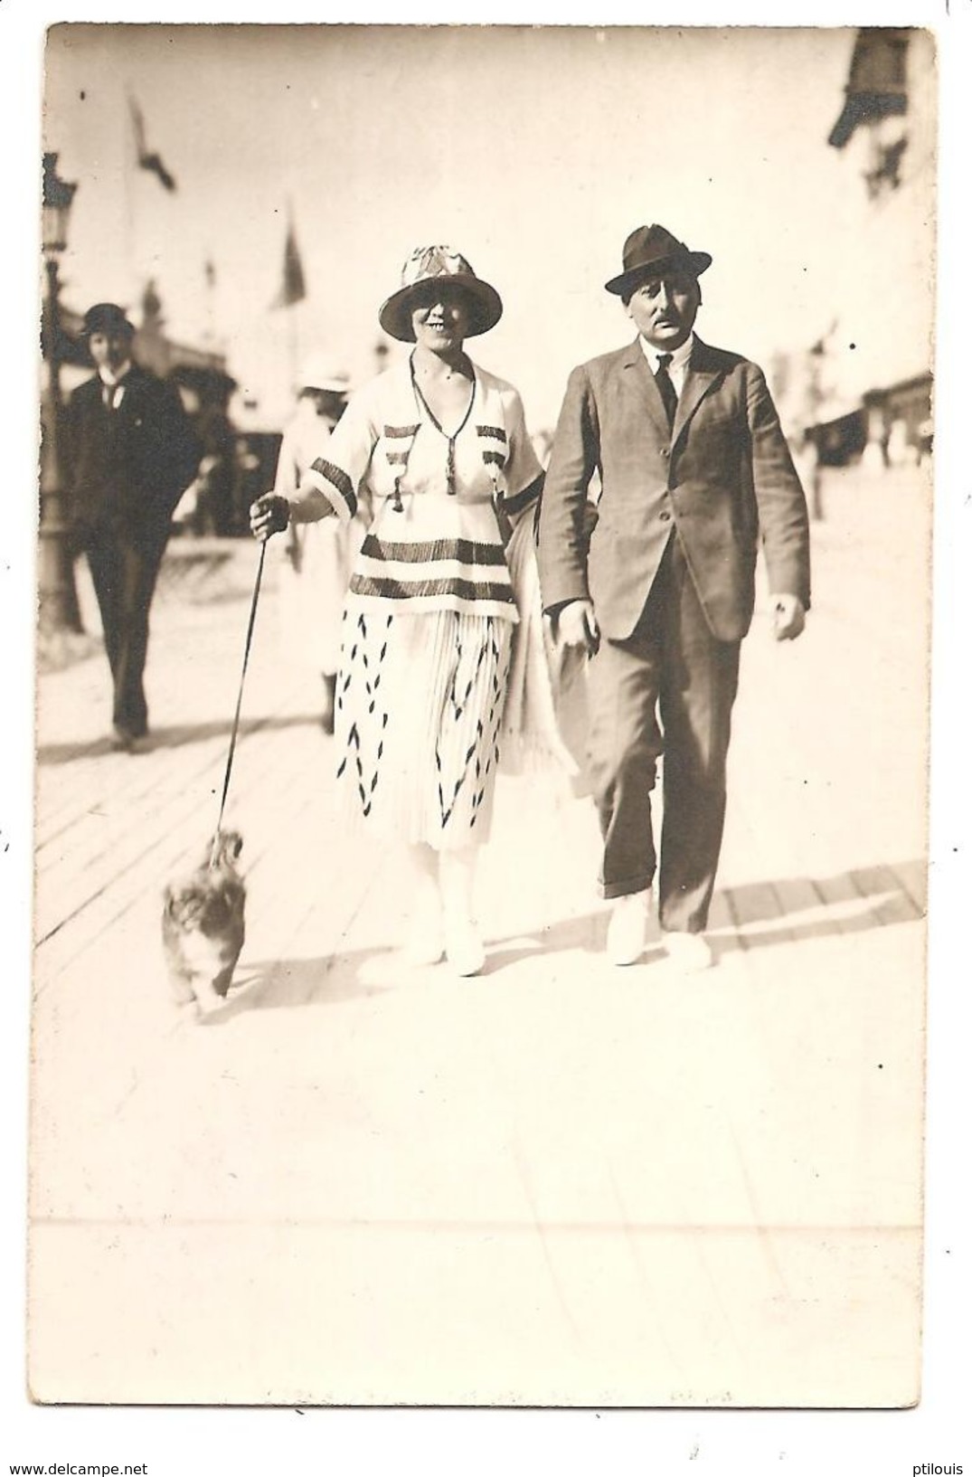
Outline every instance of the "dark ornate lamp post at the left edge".
<path fill-rule="evenodd" d="M 40 629 L 44 634 L 80 632 L 81 611 L 74 585 L 74 557 L 68 545 L 64 468 L 61 464 L 61 282 L 58 261 L 68 244 L 68 219 L 77 185 L 58 177 L 58 155 L 44 154 L 41 245 L 46 297 L 41 349 L 47 372 L 41 390 L 40 445 Z"/>

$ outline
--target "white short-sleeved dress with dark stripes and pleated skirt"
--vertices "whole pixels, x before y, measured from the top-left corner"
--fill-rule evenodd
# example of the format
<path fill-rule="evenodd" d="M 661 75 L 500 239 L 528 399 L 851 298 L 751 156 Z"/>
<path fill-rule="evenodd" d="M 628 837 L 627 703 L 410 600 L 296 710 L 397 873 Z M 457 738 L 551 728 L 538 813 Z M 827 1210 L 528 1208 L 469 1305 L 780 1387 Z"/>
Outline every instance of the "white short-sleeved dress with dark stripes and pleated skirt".
<path fill-rule="evenodd" d="M 337 682 L 338 778 L 389 839 L 437 849 L 489 835 L 518 620 L 501 524 L 539 493 L 513 385 L 474 369 L 449 440 L 406 360 L 352 397 L 304 479 L 343 520 L 369 496 Z"/>

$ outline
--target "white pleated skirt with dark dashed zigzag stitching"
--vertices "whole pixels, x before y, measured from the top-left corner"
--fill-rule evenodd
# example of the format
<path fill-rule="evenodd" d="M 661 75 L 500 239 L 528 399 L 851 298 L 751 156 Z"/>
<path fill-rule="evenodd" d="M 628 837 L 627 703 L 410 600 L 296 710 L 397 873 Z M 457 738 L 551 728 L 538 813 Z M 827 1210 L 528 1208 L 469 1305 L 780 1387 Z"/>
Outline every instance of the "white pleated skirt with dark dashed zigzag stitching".
<path fill-rule="evenodd" d="M 334 731 L 349 821 L 437 851 L 487 839 L 511 635 L 492 614 L 346 609 Z"/>

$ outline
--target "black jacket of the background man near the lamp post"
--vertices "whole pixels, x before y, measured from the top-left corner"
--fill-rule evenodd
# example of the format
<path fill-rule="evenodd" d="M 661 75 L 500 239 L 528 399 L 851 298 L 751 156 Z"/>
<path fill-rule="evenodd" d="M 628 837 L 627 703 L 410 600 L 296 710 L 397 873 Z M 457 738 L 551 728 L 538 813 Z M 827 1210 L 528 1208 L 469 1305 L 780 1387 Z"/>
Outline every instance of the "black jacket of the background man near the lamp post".
<path fill-rule="evenodd" d="M 192 482 L 199 448 L 174 385 L 133 365 L 117 409 L 97 375 L 71 396 L 65 470 L 75 542 L 105 532 L 146 552 L 164 545 L 179 498 Z"/>

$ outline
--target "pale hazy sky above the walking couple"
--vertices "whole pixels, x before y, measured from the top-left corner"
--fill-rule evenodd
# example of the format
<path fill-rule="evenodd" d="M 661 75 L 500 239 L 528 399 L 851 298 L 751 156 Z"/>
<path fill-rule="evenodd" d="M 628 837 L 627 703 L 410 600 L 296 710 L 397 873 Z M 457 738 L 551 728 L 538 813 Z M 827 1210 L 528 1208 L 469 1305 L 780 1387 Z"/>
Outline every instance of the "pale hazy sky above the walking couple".
<path fill-rule="evenodd" d="M 309 350 L 374 369 L 405 257 L 448 242 L 505 303 L 474 356 L 541 427 L 570 368 L 631 337 L 604 282 L 657 220 L 715 257 L 703 335 L 758 360 L 807 349 L 864 272 L 864 189 L 826 142 L 852 44 L 807 27 L 68 24 L 44 120 L 78 186 L 65 300 L 137 319 L 154 278 L 170 332 L 217 341 L 273 421 Z M 130 97 L 173 193 L 134 167 Z M 272 312 L 288 220 L 307 297 Z M 925 366 L 919 334 L 903 377 Z"/>

